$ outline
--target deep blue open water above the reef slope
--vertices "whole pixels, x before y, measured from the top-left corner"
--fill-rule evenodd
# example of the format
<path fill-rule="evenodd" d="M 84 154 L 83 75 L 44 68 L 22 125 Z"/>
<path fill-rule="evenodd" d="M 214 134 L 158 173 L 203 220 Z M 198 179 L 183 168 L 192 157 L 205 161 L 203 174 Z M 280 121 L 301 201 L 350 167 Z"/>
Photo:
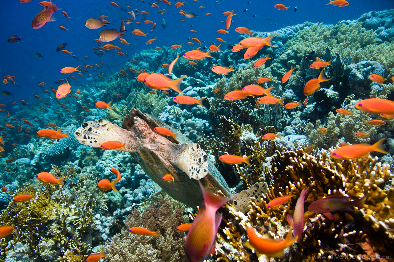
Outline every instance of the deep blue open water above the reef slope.
<path fill-rule="evenodd" d="M 84 63 L 94 65 L 103 61 L 105 66 L 100 70 L 105 73 L 105 76 L 109 76 L 123 68 L 125 62 L 132 59 L 133 54 L 143 49 L 171 46 L 172 44 L 183 44 L 186 51 L 195 49 L 198 47 L 197 44 L 193 46 L 186 44 L 187 42 L 193 42 L 192 37 L 197 37 L 203 42 L 203 46 L 209 46 L 212 43 L 218 45 L 220 42 L 216 40 L 217 37 L 229 42 L 238 42 L 239 33 L 234 31 L 238 26 L 245 26 L 255 31 L 274 31 L 305 21 L 335 24 L 340 20 L 357 19 L 363 13 L 371 10 L 381 11 L 394 7 L 394 1 L 392 0 L 351 0 L 349 6 L 346 7 L 326 5 L 329 0 L 222 0 L 218 1 L 219 3 L 214 0 L 199 2 L 186 0 L 187 4 L 180 8 L 174 6 L 176 1 L 171 1 L 172 6 L 158 2 L 160 10 L 167 10 L 164 15 L 160 15 L 157 13 L 157 7 L 151 7 L 148 3 L 136 0 L 114 1 L 126 11 L 120 7 L 114 7 L 110 4 L 110 1 L 104 0 L 57 0 L 54 3 L 63 9 L 54 13 L 53 16 L 56 21 L 48 22 L 43 28 L 32 29 L 33 18 L 43 9 L 38 4 L 39 2 L 38 0 L 32 0 L 30 3 L 20 4 L 18 0 L 1 0 L 0 76 L 3 78 L 7 74 L 15 75 L 17 84 L 8 83 L 0 87 L 0 91 L 8 90 L 15 93 L 14 96 L 0 95 L 0 103 L 9 104 L 13 101 L 19 102 L 20 99 L 26 101 L 34 99 L 32 94 L 40 95 L 43 92 L 43 89 L 38 86 L 41 81 L 48 83 L 45 86 L 46 89 L 49 89 L 49 84 L 57 89 L 59 84 L 56 84 L 55 81 L 65 78 L 66 75 L 59 72 L 65 66 L 76 67 L 84 65 Z M 289 11 L 275 9 L 275 4 L 290 6 Z M 151 32 L 152 24 L 126 25 L 127 35 L 124 38 L 131 43 L 130 47 L 121 44 L 119 40 L 113 42 L 120 46 L 123 52 L 128 53 L 129 57 L 120 56 L 115 50 L 110 50 L 102 57 L 95 55 L 92 48 L 98 47 L 99 44 L 93 39 L 98 38 L 100 31 L 103 29 L 119 30 L 120 19 L 131 17 L 127 14 L 128 11 L 131 11 L 127 6 L 139 11 L 148 11 L 147 20 L 157 22 L 155 30 Z M 200 9 L 200 6 L 205 8 Z M 297 6 L 296 12 L 294 12 L 295 6 Z M 225 29 L 225 24 L 221 23 L 221 21 L 226 20 L 226 16 L 222 15 L 223 12 L 231 11 L 233 8 L 235 9 L 234 13 L 238 13 L 238 15 L 233 17 L 230 33 L 216 33 L 218 29 Z M 194 12 L 199 17 L 191 19 L 181 17 L 178 13 L 181 9 L 186 12 Z M 66 11 L 71 21 L 65 18 L 61 11 Z M 212 13 L 212 15 L 206 16 L 206 13 Z M 108 16 L 106 19 L 111 22 L 110 26 L 96 30 L 90 30 L 84 26 L 87 18 L 99 18 L 100 15 Z M 142 17 L 139 14 L 137 20 L 143 22 Z M 167 22 L 165 29 L 161 26 L 163 18 Z M 186 22 L 181 22 L 181 19 L 186 20 Z M 65 26 L 69 31 L 63 31 L 59 29 L 59 26 Z M 139 28 L 145 33 L 149 32 L 147 38 L 132 35 L 133 28 Z M 197 33 L 191 33 L 190 30 L 195 30 Z M 22 36 L 23 42 L 8 43 L 8 37 L 13 35 Z M 147 45 L 146 41 L 154 37 L 157 41 Z M 63 54 L 63 52 L 56 52 L 56 47 L 63 42 L 68 44 L 65 49 L 76 55 L 78 59 Z M 135 47 L 133 47 L 133 43 Z M 35 52 L 40 53 L 44 58 L 33 56 Z M 90 60 L 87 60 L 85 55 Z M 81 60 L 81 58 L 84 60 Z M 95 77 L 98 73 L 90 69 L 89 74 Z M 86 76 L 81 78 L 76 73 L 71 75 L 78 79 L 78 81 L 72 81 L 75 86 L 78 83 L 85 83 Z M 9 106 L 12 105 L 7 105 L 7 110 L 11 110 Z"/>

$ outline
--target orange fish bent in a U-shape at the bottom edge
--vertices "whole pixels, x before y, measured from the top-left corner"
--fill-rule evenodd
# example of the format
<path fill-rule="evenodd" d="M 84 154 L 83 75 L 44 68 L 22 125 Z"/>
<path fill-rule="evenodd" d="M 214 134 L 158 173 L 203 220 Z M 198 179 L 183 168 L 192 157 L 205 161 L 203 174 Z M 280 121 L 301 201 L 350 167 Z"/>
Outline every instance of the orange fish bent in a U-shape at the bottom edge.
<path fill-rule="evenodd" d="M 283 249 L 296 242 L 297 237 L 292 236 L 292 232 L 288 232 L 284 240 L 262 238 L 253 227 L 246 229 L 249 242 L 245 242 L 245 247 L 255 249 L 256 255 L 265 254 L 268 256 L 281 256 Z"/>

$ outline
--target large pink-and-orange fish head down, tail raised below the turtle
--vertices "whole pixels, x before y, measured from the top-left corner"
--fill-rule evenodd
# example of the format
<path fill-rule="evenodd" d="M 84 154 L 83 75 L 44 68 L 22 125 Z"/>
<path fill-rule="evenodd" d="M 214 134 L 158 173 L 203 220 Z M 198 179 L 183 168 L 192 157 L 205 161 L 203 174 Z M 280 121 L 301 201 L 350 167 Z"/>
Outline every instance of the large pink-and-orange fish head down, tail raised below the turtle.
<path fill-rule="evenodd" d="M 232 198 L 216 196 L 208 192 L 199 181 L 205 206 L 200 208 L 186 236 L 186 255 L 191 262 L 199 262 L 215 253 L 216 233 L 222 213 L 216 211 Z"/>

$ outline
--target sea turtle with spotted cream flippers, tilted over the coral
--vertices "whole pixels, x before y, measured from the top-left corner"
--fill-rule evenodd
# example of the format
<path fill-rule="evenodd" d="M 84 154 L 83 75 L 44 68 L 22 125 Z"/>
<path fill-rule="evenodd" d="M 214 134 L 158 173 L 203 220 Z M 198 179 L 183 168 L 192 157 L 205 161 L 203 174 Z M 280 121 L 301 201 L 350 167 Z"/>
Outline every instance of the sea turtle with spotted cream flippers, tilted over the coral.
<path fill-rule="evenodd" d="M 160 135 L 154 131 L 158 126 L 177 133 L 158 118 L 132 108 L 130 114 L 123 118 L 122 127 L 101 118 L 82 123 L 74 137 L 81 144 L 93 148 L 100 148 L 107 141 L 126 143 L 126 150 L 115 150 L 129 152 L 167 194 L 190 207 L 204 205 L 197 180 L 210 192 L 221 190 L 225 196 L 232 196 L 226 181 L 199 144 L 191 142 L 181 133 L 177 135 L 177 140 Z M 167 173 L 173 175 L 175 183 L 162 179 Z"/>

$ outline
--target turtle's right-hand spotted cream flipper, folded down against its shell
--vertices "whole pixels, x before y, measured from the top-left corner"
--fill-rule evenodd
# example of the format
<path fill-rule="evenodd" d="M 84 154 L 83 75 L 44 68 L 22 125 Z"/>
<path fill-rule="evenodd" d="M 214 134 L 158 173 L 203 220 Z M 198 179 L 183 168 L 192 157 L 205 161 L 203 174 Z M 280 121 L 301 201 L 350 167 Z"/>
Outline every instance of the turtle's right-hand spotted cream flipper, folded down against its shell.
<path fill-rule="evenodd" d="M 173 162 L 180 170 L 190 178 L 201 179 L 208 174 L 208 157 L 199 144 L 174 144 L 179 146 L 174 155 Z"/>

